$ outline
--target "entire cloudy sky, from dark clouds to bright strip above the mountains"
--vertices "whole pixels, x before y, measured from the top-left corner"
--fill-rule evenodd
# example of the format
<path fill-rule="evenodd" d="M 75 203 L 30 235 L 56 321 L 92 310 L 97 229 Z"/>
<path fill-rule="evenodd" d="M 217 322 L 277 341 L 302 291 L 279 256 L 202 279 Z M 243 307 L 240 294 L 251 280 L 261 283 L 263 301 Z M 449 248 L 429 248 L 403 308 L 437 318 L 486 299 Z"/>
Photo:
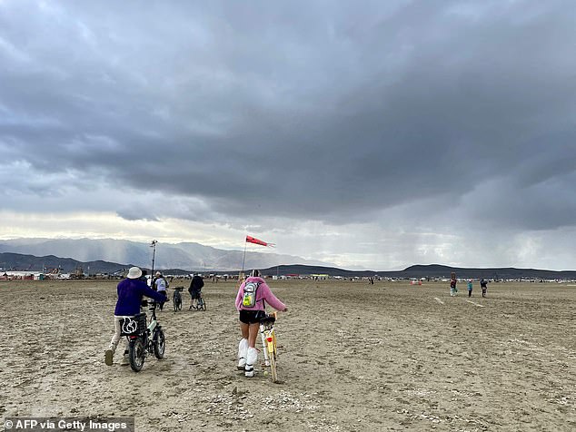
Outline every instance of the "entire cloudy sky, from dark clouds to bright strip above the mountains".
<path fill-rule="evenodd" d="M 0 0 L 0 239 L 576 270 L 574 23 L 554 0 Z"/>

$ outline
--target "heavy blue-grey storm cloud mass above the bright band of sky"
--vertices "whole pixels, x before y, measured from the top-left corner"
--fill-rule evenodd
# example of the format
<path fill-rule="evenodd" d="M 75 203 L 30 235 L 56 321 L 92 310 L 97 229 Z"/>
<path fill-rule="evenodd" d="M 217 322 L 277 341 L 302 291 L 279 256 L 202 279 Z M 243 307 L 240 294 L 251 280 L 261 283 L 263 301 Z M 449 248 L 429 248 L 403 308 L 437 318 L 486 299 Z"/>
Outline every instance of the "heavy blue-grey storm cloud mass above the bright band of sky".
<path fill-rule="evenodd" d="M 222 214 L 344 222 L 436 199 L 573 225 L 570 2 L 147 7 L 0 3 L 6 160 Z"/>

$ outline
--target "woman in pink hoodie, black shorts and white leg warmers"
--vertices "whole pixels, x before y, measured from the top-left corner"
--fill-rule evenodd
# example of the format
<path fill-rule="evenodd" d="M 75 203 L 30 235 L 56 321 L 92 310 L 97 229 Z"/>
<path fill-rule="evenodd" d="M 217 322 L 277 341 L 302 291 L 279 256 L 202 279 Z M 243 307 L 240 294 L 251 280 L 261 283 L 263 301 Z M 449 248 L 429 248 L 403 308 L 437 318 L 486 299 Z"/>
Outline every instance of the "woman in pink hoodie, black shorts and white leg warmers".
<path fill-rule="evenodd" d="M 252 307 L 243 304 L 244 287 L 250 282 L 254 282 L 257 286 Z M 243 370 L 246 377 L 254 376 L 254 365 L 258 360 L 258 350 L 255 349 L 255 345 L 260 331 L 260 319 L 266 315 L 264 303 L 283 312 L 288 310 L 286 305 L 273 295 L 270 287 L 261 278 L 260 271 L 252 270 L 251 275 L 240 285 L 236 295 L 236 309 L 240 312 L 240 331 L 242 332 L 242 340 L 238 344 L 238 369 Z"/>

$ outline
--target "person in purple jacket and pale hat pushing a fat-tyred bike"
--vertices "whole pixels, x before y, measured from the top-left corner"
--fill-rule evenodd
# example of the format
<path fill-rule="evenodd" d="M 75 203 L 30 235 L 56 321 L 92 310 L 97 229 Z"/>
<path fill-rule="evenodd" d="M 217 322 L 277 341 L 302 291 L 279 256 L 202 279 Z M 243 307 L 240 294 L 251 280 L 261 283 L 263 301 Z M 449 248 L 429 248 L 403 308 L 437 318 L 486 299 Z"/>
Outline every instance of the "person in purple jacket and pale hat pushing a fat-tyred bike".
<path fill-rule="evenodd" d="M 150 297 L 158 302 L 165 300 L 164 295 L 152 290 L 148 284 L 139 279 L 142 276 L 142 270 L 138 267 L 132 267 L 128 270 L 126 279 L 122 280 L 116 290 L 118 291 L 118 300 L 116 301 L 116 308 L 114 309 L 114 336 L 110 341 L 110 347 L 104 352 L 104 360 L 106 365 L 112 366 L 114 359 L 114 352 L 118 346 L 121 337 L 121 324 L 120 321 L 124 317 L 133 318 L 140 313 L 140 304 L 142 298 Z M 121 366 L 128 364 L 127 358 L 128 351 L 124 350 L 124 359 Z"/>

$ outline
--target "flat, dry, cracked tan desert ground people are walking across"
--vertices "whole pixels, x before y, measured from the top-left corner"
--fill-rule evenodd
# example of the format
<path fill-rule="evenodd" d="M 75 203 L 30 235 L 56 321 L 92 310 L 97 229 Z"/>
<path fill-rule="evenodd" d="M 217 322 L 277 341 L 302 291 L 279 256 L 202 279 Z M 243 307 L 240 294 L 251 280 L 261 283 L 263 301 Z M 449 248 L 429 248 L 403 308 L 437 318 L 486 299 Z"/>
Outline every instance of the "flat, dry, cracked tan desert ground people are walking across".
<path fill-rule="evenodd" d="M 464 283 L 452 298 L 447 283 L 271 281 L 289 306 L 273 384 L 260 366 L 254 378 L 236 370 L 234 282 L 206 282 L 205 312 L 158 313 L 164 359 L 106 367 L 116 283 L 0 282 L 1 417 L 134 417 L 138 431 L 576 430 L 573 284 L 491 283 L 483 299 L 476 282 L 469 299 Z"/>

